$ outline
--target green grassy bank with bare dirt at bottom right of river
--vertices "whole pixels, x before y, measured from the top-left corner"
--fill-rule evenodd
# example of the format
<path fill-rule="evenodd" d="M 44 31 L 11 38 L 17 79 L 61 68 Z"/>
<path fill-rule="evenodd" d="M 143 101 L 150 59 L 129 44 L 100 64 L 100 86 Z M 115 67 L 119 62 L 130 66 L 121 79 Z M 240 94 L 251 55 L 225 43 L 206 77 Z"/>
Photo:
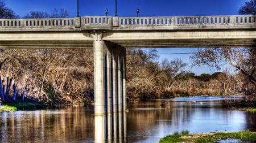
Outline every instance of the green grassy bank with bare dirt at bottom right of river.
<path fill-rule="evenodd" d="M 226 140 L 228 138 L 249 141 L 256 140 L 256 133 L 250 131 L 241 131 L 241 132 L 230 132 L 230 133 L 204 133 L 204 134 L 192 134 L 188 135 L 188 131 L 183 133 L 175 132 L 173 135 L 168 135 L 160 139 L 160 143 L 166 142 L 196 142 L 196 143 L 207 143 L 214 142 L 218 140 Z"/>

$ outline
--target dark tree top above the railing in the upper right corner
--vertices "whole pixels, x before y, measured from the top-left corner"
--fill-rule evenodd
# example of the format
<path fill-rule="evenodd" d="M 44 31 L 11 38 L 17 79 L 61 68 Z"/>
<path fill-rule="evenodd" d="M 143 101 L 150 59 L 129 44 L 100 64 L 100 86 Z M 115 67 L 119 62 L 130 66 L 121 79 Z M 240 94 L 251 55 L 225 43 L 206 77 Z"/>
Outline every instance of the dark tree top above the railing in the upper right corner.
<path fill-rule="evenodd" d="M 249 2 L 245 2 L 245 5 L 243 5 L 239 11 L 239 14 L 256 14 L 256 0 L 251 0 Z"/>

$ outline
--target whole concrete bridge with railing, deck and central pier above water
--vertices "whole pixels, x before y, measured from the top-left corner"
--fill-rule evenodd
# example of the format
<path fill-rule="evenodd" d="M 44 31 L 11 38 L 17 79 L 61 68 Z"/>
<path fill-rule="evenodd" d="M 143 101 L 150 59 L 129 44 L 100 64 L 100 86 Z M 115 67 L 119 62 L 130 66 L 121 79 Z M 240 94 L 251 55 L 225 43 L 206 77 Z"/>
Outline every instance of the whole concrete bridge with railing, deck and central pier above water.
<path fill-rule="evenodd" d="M 0 20 L 1 49 L 93 48 L 96 115 L 127 110 L 126 48 L 255 46 L 256 15 Z"/>

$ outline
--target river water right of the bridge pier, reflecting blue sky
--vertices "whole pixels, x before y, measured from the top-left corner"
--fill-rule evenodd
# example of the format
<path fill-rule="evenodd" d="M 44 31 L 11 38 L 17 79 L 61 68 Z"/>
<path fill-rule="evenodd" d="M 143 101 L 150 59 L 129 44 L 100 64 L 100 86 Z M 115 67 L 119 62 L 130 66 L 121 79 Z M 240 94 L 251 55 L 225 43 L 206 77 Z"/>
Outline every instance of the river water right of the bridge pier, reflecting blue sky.
<path fill-rule="evenodd" d="M 128 142 L 158 142 L 160 137 L 183 130 L 189 133 L 256 131 L 255 113 L 226 109 L 222 107 L 223 102 L 159 100 L 129 105 Z"/>

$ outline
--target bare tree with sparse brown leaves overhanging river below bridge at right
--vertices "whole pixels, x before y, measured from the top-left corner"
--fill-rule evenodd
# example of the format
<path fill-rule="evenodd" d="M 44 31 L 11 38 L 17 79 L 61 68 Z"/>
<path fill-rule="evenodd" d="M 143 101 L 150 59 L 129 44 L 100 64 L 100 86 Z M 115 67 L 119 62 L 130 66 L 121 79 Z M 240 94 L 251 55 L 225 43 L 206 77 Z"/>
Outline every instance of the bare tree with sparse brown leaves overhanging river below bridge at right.
<path fill-rule="evenodd" d="M 199 49 L 191 56 L 193 66 L 206 65 L 221 69 L 221 66 L 229 63 L 243 75 L 245 75 L 256 88 L 256 59 L 255 48 L 250 47 L 225 47 Z"/>

